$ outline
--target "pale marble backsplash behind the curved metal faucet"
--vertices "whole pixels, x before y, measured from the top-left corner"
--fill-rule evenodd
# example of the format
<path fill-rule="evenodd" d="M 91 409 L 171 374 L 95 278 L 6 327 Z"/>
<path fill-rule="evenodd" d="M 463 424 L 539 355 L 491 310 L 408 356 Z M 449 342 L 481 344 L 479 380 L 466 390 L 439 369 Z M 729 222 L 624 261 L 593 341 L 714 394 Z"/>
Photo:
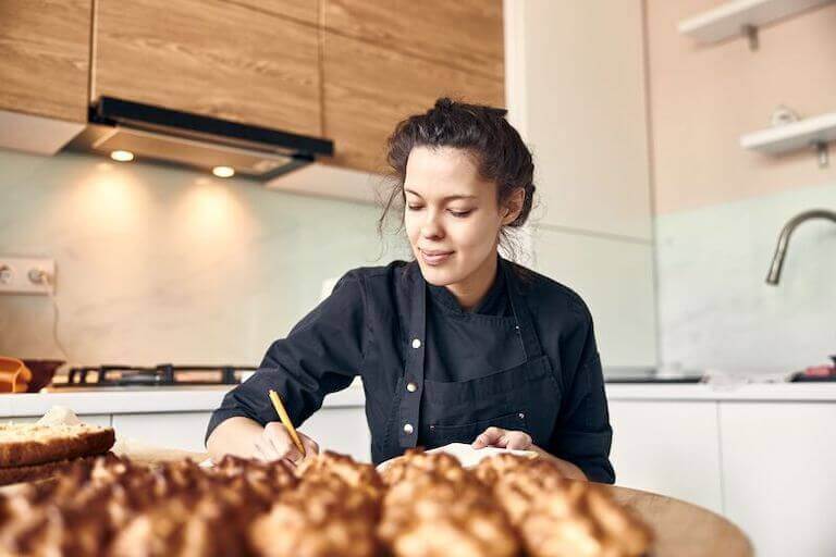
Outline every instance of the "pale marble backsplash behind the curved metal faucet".
<path fill-rule="evenodd" d="M 836 354 L 836 225 L 802 224 L 765 283 L 780 228 L 813 208 L 836 210 L 836 184 L 657 216 L 663 363 L 785 372 Z"/>

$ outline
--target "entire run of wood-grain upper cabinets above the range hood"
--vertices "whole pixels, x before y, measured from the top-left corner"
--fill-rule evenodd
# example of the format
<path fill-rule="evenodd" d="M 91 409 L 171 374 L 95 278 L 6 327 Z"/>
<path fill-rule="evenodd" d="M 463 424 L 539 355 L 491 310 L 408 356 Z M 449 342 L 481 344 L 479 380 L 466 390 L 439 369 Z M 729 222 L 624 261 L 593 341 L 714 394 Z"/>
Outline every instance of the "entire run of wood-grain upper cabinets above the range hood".
<path fill-rule="evenodd" d="M 505 106 L 502 0 L 0 0 L 0 110 L 101 96 L 334 139 L 381 172 L 440 96 Z"/>

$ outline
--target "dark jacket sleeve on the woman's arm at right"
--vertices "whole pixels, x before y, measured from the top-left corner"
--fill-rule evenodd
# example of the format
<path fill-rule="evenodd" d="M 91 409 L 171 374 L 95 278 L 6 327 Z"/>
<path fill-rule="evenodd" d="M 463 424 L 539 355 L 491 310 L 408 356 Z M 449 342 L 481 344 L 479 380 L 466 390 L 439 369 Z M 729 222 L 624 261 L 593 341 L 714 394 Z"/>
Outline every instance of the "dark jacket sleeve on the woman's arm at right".
<path fill-rule="evenodd" d="M 576 354 L 567 360 L 578 363 L 568 392 L 564 394 L 550 453 L 580 468 L 590 481 L 612 484 L 615 483 L 615 471 L 610 462 L 613 430 L 601 358 L 588 310 L 586 315 L 585 331 L 577 335 L 575 346 L 569 346 Z"/>

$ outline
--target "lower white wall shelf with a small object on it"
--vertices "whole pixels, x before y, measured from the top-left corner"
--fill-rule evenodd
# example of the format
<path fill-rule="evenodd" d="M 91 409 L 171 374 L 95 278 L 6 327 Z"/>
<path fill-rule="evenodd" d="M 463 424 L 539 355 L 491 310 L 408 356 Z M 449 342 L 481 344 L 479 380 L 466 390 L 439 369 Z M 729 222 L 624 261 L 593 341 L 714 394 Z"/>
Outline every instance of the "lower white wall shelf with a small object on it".
<path fill-rule="evenodd" d="M 740 146 L 767 154 L 779 154 L 836 140 L 836 112 L 828 112 L 740 137 Z"/>

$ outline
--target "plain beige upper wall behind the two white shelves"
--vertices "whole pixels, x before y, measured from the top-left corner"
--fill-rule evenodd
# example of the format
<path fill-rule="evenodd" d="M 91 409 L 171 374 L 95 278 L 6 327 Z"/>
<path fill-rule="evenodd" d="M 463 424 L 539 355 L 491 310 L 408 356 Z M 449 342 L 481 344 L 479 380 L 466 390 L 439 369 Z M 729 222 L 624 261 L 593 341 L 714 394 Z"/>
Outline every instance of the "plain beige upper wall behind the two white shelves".
<path fill-rule="evenodd" d="M 721 3 L 647 0 L 657 214 L 836 177 L 836 160 L 821 170 L 812 151 L 767 158 L 738 143 L 767 127 L 778 104 L 802 117 L 836 110 L 836 4 L 763 27 L 757 51 L 741 38 L 699 46 L 677 32 L 680 20 Z"/>

